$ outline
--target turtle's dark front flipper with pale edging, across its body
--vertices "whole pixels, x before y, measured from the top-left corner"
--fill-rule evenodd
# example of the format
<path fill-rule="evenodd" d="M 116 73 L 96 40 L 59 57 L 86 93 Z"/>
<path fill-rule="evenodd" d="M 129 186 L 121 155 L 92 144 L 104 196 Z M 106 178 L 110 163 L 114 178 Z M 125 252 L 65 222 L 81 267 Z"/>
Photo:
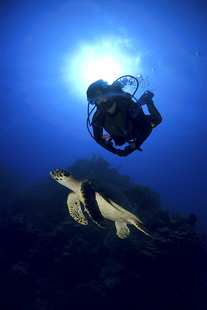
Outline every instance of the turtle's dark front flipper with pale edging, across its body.
<path fill-rule="evenodd" d="M 91 219 L 100 227 L 106 228 L 106 220 L 99 210 L 98 203 L 95 199 L 95 192 L 88 182 L 82 182 L 81 194 L 83 197 L 84 207 L 91 216 Z"/>

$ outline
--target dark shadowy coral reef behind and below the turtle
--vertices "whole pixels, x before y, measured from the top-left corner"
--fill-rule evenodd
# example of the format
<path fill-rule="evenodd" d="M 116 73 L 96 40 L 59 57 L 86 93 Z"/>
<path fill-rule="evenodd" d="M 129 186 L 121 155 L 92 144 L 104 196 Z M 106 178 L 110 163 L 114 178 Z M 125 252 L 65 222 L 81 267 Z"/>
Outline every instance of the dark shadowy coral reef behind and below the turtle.
<path fill-rule="evenodd" d="M 110 180 L 156 238 L 130 225 L 129 236 L 120 239 L 114 222 L 107 220 L 103 229 L 87 214 L 88 225 L 78 224 L 66 205 L 69 190 L 51 177 L 24 192 L 5 194 L 2 309 L 207 309 L 205 233 L 196 229 L 195 217 L 170 216 L 158 193 L 132 185 L 118 168 L 93 154 L 65 169 L 78 177 Z"/>

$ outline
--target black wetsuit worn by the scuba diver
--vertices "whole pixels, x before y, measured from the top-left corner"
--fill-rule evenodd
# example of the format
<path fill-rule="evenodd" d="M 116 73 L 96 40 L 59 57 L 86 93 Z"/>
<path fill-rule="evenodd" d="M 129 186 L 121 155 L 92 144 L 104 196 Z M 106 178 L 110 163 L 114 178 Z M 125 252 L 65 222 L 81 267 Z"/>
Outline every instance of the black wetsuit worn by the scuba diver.
<path fill-rule="evenodd" d="M 162 122 L 162 117 L 151 99 L 147 99 L 146 102 L 150 115 L 145 115 L 139 104 L 134 102 L 130 94 L 126 92 L 116 96 L 115 102 L 114 112 L 105 112 L 98 119 L 96 115 L 99 112 L 99 107 L 97 107 L 92 119 L 95 141 L 109 152 L 116 153 L 117 149 L 112 146 L 112 143 L 102 139 L 104 128 L 114 140 L 115 146 L 124 145 L 129 140 L 135 139 L 135 149 L 138 150 L 152 129 Z M 129 135 L 124 135 L 125 130 L 129 131 Z M 132 152 L 133 150 L 130 153 Z"/>

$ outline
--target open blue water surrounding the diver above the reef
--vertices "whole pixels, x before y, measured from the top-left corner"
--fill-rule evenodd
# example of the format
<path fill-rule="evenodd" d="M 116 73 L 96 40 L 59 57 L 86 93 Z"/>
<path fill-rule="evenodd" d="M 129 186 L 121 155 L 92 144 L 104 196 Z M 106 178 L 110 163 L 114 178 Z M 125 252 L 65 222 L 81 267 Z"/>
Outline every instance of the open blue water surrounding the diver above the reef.
<path fill-rule="evenodd" d="M 206 230 L 206 1 L 0 5 L 1 163 L 32 185 L 94 152 Z M 87 131 L 86 90 L 126 74 L 149 82 L 136 97 L 153 90 L 163 122 L 142 153 L 118 157 Z"/>

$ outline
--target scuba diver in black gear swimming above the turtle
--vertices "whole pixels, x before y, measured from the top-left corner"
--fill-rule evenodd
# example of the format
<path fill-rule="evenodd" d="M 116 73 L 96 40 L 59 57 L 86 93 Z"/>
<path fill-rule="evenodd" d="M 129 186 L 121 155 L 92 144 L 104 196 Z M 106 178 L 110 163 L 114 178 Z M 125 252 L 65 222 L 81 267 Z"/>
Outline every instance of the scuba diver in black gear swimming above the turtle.
<path fill-rule="evenodd" d="M 134 79 L 137 81 L 136 78 Z M 108 82 L 100 79 L 88 87 L 87 127 L 88 123 L 89 126 L 92 125 L 94 137 L 88 127 L 89 133 L 99 145 L 111 153 L 126 157 L 135 150 L 142 151 L 140 146 L 150 135 L 152 129 L 162 122 L 162 117 L 154 106 L 152 100 L 154 94 L 151 91 L 146 91 L 137 102 L 134 102 L 132 97 L 135 98 L 133 95 L 137 89 L 131 95 L 123 91 L 115 82 L 109 85 Z M 138 85 L 137 81 L 137 88 Z M 95 104 L 96 107 L 91 124 L 89 117 L 95 107 L 89 113 L 89 104 Z M 144 104 L 147 105 L 150 115 L 143 112 L 142 105 Z M 108 134 L 103 135 L 103 129 Z M 129 145 L 123 150 L 118 149 L 113 146 L 112 140 L 115 147 L 125 143 Z"/>

